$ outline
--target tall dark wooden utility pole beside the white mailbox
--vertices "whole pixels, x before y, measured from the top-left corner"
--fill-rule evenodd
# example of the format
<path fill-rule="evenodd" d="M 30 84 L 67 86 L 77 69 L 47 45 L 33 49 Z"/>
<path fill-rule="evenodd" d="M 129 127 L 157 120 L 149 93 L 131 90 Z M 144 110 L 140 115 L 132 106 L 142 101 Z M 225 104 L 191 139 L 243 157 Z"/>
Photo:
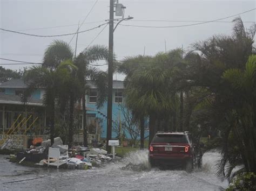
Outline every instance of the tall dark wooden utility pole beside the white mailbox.
<path fill-rule="evenodd" d="M 109 11 L 109 83 L 107 94 L 107 136 L 106 151 L 111 152 L 109 140 L 112 138 L 112 95 L 113 95 L 113 31 L 114 31 L 114 0 L 110 0 Z"/>

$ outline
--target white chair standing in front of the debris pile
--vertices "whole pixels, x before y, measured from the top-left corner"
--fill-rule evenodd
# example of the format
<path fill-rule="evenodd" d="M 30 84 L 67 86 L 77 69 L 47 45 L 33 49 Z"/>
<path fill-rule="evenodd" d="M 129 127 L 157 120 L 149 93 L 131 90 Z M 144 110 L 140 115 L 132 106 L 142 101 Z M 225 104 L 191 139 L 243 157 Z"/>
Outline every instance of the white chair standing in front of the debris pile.
<path fill-rule="evenodd" d="M 52 148 L 49 147 L 49 151 L 48 151 L 48 166 L 57 166 L 57 168 L 59 168 L 60 165 L 63 164 L 68 164 L 68 145 L 61 145 L 62 147 L 66 148 L 66 152 L 64 155 L 60 155 L 60 151 L 59 148 Z M 55 162 L 50 162 L 50 158 L 55 158 L 57 159 L 57 161 Z M 63 158 L 66 158 L 65 160 L 61 160 Z"/>

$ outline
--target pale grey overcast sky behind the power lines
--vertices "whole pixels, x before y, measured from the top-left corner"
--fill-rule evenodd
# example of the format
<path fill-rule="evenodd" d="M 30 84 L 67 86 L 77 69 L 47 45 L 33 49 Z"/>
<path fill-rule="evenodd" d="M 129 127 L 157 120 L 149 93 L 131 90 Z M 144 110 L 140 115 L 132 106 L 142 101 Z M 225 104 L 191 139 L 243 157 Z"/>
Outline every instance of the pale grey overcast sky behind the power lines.
<path fill-rule="evenodd" d="M 55 35 L 76 32 L 78 23 L 82 23 L 96 0 L 81 1 L 11 1 L 0 0 L 1 28 L 38 35 Z M 256 8 L 256 1 L 171 1 L 171 0 L 119 0 L 126 6 L 125 17 L 133 20 L 124 21 L 125 25 L 140 26 L 176 26 L 207 21 L 235 15 Z M 240 15 L 244 22 L 255 22 L 256 11 Z M 120 18 L 120 17 L 115 17 Z M 91 29 L 109 19 L 109 0 L 99 0 L 80 31 Z M 138 21 L 143 20 L 143 21 Z M 153 22 L 146 20 L 174 20 L 179 22 Z M 181 22 L 191 20 L 193 22 Z M 223 21 L 232 21 L 228 18 Z M 253 23 L 244 23 L 250 27 Z M 71 26 L 63 26 L 71 25 Z M 58 27 L 57 27 L 58 26 Z M 78 36 L 77 53 L 83 51 L 104 26 L 80 33 Z M 167 50 L 181 47 L 188 49 L 192 43 L 211 37 L 213 34 L 231 34 L 232 23 L 206 23 L 195 26 L 176 28 L 144 28 L 119 25 L 114 32 L 114 52 L 118 60 L 125 56 L 144 53 L 154 55 Z M 50 28 L 50 29 L 40 29 Z M 42 38 L 24 36 L 22 34 L 0 31 L 0 58 L 42 62 L 45 48 L 54 39 L 69 43 L 72 36 Z M 109 27 L 105 27 L 93 44 L 108 46 Z M 70 45 L 75 49 L 75 38 Z M 14 63 L 0 60 L 0 63 Z M 102 62 L 99 62 L 102 63 Z M 0 65 L 5 68 L 18 69 L 28 65 Z M 106 69 L 105 67 L 100 67 Z M 114 80 L 122 80 L 122 75 L 114 75 Z"/>

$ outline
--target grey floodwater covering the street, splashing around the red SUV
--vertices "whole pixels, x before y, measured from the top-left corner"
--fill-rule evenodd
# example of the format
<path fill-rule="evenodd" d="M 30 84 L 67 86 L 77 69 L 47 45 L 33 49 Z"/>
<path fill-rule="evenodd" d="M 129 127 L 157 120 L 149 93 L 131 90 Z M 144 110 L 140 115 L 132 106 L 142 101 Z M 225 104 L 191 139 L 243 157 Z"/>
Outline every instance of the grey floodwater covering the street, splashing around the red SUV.
<path fill-rule="evenodd" d="M 5 157 L 0 155 L 0 190 L 224 190 L 228 186 L 215 175 L 220 157 L 216 151 L 205 153 L 203 168 L 192 173 L 151 168 L 147 151 L 87 171 L 24 167 Z"/>

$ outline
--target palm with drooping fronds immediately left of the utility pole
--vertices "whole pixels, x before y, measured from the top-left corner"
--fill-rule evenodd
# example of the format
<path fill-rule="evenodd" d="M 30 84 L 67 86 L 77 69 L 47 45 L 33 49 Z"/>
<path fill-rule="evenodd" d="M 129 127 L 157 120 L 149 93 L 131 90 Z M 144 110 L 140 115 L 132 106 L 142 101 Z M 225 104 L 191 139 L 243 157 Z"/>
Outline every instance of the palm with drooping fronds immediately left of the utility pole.
<path fill-rule="evenodd" d="M 76 58 L 76 66 L 78 67 L 77 77 L 80 83 L 82 83 L 82 107 L 83 107 L 83 136 L 84 136 L 84 146 L 87 146 L 87 126 L 86 126 L 86 107 L 85 107 L 85 95 L 88 87 L 86 86 L 86 80 L 91 79 L 93 83 L 98 87 L 98 99 L 97 108 L 101 108 L 106 95 L 106 80 L 107 73 L 100 71 L 94 67 L 90 66 L 91 62 L 98 60 L 107 60 L 108 50 L 105 46 L 95 45 L 85 49 Z"/>

